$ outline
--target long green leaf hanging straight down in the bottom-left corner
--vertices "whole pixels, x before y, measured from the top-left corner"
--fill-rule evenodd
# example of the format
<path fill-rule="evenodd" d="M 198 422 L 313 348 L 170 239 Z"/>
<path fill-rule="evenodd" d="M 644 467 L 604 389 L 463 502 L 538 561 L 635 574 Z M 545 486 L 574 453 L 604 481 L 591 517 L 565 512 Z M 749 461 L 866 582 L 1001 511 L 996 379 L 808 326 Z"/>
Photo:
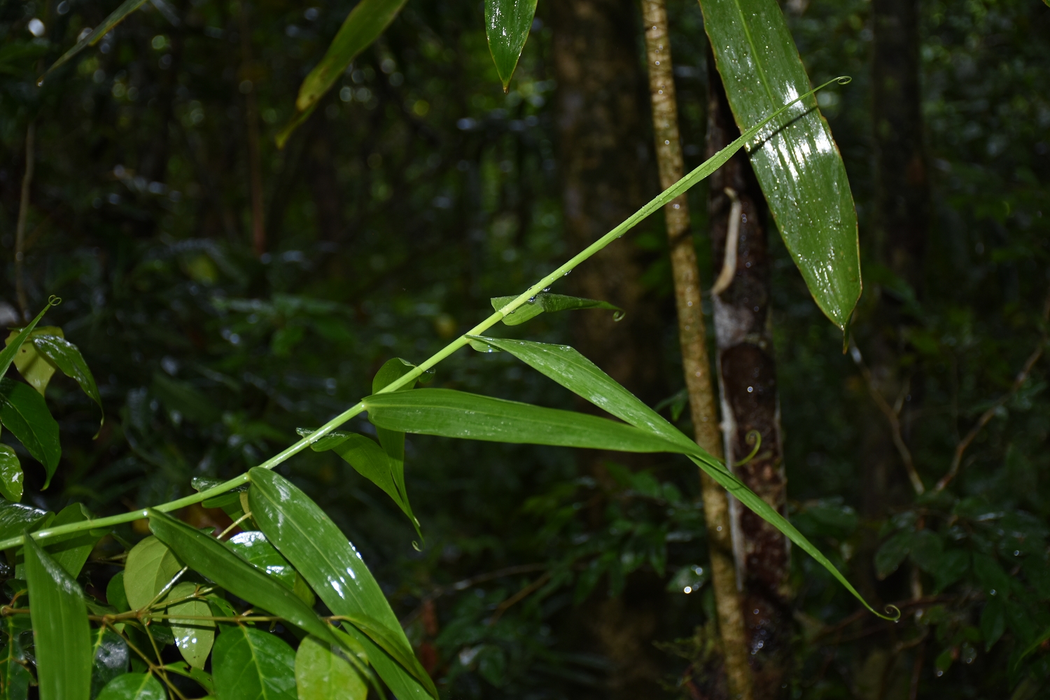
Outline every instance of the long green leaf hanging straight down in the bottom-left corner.
<path fill-rule="evenodd" d="M 91 637 L 80 585 L 25 533 L 40 700 L 88 700 Z"/>

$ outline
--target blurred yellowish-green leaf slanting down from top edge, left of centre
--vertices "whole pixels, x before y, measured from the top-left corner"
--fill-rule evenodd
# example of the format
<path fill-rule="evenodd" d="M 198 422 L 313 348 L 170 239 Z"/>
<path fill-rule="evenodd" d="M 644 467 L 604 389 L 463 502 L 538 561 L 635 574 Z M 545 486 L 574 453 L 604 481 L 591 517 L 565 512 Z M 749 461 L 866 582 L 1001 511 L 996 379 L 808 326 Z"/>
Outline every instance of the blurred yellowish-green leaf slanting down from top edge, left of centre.
<path fill-rule="evenodd" d="M 277 148 L 284 148 L 294 128 L 304 121 L 302 118 L 307 112 L 317 106 L 317 102 L 332 88 L 354 57 L 394 21 L 404 2 L 405 0 L 361 0 L 354 6 L 329 45 L 324 58 L 299 86 L 299 96 L 295 100 L 297 113 L 292 116 L 292 123 L 281 130 Z"/>

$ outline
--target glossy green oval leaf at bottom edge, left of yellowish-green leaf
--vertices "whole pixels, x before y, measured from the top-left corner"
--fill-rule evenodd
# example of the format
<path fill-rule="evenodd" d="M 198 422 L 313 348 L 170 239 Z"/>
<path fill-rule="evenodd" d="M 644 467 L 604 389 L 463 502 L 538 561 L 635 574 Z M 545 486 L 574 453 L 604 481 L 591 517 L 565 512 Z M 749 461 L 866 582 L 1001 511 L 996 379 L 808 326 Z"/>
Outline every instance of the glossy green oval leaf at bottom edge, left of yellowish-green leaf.
<path fill-rule="evenodd" d="M 297 700 L 295 652 L 280 637 L 254 628 L 223 629 L 212 677 L 222 700 Z"/>

